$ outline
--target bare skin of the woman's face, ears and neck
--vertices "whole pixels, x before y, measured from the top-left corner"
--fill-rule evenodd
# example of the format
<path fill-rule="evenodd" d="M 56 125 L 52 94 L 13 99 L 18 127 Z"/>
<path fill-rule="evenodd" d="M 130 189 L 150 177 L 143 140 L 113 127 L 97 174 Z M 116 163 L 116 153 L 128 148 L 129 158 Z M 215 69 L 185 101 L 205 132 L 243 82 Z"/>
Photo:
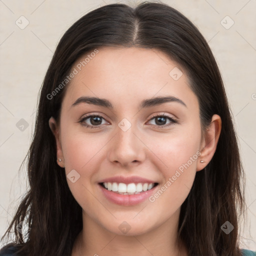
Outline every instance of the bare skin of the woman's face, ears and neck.
<path fill-rule="evenodd" d="M 84 56 L 73 67 L 83 59 Z M 184 244 L 178 249 L 176 241 L 180 206 L 196 171 L 203 169 L 215 152 L 221 119 L 213 115 L 202 135 L 196 95 L 189 88 L 184 71 L 178 80 L 169 75 L 174 67 L 182 70 L 155 49 L 99 48 L 68 84 L 59 125 L 53 117 L 49 119 L 57 158 L 61 158 L 58 164 L 66 174 L 72 169 L 80 174 L 74 183 L 67 178 L 82 207 L 84 227 L 74 242 L 72 256 L 188 255 Z M 186 106 L 165 102 L 138 107 L 143 99 L 169 95 L 181 99 Z M 113 109 L 86 103 L 71 106 L 80 96 L 108 99 Z M 96 128 L 78 122 L 92 113 L 103 116 L 101 124 L 94 124 Z M 162 113 L 178 123 L 166 118 L 165 124 L 160 125 L 152 117 Z M 123 118 L 131 124 L 126 131 L 118 126 Z M 91 120 L 84 122 L 93 125 Z M 100 179 L 116 175 L 138 175 L 155 180 L 161 187 L 196 152 L 200 152 L 198 158 L 153 202 L 146 199 L 133 206 L 118 205 L 108 201 L 99 189 Z M 123 221 L 130 226 L 125 234 L 118 228 Z"/>

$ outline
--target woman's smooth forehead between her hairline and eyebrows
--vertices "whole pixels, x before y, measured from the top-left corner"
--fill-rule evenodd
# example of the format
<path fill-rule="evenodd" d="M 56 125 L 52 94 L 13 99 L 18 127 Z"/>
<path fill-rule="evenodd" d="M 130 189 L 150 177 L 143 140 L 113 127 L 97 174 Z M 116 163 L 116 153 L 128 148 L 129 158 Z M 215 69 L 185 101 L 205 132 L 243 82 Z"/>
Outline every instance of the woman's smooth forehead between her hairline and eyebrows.
<path fill-rule="evenodd" d="M 67 86 L 66 105 L 86 95 L 108 98 L 115 107 L 163 95 L 183 98 L 188 105 L 196 100 L 184 70 L 157 49 L 98 48 L 77 59 L 71 70 L 76 74 Z"/>

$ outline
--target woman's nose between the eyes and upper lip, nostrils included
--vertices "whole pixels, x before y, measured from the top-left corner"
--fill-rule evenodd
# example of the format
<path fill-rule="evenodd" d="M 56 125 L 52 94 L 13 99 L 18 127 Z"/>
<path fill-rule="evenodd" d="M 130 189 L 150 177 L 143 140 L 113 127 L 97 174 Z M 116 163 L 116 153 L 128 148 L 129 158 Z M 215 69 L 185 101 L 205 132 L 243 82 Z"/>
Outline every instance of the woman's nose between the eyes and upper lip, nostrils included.
<path fill-rule="evenodd" d="M 110 161 L 118 161 L 126 165 L 129 162 L 143 160 L 144 145 L 138 139 L 139 135 L 136 133 L 138 133 L 136 124 L 131 123 L 126 118 L 118 123 L 109 150 L 108 157 Z"/>

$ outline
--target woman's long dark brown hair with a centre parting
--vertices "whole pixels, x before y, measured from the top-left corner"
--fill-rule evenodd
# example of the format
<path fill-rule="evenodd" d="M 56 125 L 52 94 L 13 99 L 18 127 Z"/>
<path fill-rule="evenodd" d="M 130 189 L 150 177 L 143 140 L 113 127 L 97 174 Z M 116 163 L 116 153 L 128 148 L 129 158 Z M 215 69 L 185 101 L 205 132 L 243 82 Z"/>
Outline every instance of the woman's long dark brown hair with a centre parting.
<path fill-rule="evenodd" d="M 222 129 L 216 151 L 209 164 L 196 172 L 181 205 L 178 239 L 190 256 L 241 255 L 238 222 L 244 214 L 244 173 L 221 75 L 198 29 L 161 2 L 143 2 L 134 8 L 108 4 L 82 16 L 64 33 L 40 90 L 35 132 L 27 154 L 30 187 L 4 236 L 13 228 L 18 255 L 70 256 L 82 229 L 82 212 L 56 163 L 55 139 L 48 125 L 51 116 L 59 118 L 68 85 L 52 99 L 47 95 L 63 81 L 75 60 L 103 46 L 161 50 L 187 74 L 199 102 L 202 130 L 213 114 L 220 115 Z M 24 219 L 29 228 L 25 234 L 15 228 Z M 220 228 L 227 220 L 234 226 L 229 234 Z"/>

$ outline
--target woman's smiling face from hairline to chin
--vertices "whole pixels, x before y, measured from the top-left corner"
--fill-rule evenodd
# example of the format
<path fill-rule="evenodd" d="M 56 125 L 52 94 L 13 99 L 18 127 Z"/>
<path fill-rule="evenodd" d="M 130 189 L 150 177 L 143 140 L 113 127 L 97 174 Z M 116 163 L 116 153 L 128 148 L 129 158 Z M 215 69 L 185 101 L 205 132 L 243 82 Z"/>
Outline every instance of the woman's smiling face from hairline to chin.
<path fill-rule="evenodd" d="M 84 219 L 117 234 L 176 226 L 205 166 L 198 101 L 185 73 L 161 51 L 136 47 L 98 48 L 71 72 L 55 135 Z"/>

